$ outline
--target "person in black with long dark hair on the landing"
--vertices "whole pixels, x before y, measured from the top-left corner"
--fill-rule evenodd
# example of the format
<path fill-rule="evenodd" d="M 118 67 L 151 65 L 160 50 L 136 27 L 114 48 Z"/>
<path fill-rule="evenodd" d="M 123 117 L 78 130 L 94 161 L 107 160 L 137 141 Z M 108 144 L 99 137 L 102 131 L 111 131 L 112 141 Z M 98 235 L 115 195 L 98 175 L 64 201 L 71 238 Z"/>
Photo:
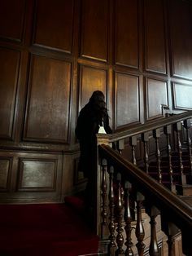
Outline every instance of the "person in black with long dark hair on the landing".
<path fill-rule="evenodd" d="M 104 126 L 106 133 L 111 134 L 105 96 L 102 91 L 95 90 L 89 99 L 89 103 L 81 109 L 76 122 L 76 138 L 79 140 L 81 151 L 78 169 L 88 179 L 85 189 L 85 206 L 87 207 L 94 207 L 96 198 L 96 134 L 99 126 Z"/>

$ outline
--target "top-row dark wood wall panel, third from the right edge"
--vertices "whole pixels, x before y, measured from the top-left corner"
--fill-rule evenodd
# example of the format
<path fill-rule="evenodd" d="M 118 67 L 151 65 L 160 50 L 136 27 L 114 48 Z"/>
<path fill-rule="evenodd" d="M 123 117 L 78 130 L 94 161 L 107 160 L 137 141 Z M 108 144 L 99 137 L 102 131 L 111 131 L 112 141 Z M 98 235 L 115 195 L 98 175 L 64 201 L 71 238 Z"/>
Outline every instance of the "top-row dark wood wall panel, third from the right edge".
<path fill-rule="evenodd" d="M 116 64 L 138 68 L 138 3 L 116 0 Z"/>

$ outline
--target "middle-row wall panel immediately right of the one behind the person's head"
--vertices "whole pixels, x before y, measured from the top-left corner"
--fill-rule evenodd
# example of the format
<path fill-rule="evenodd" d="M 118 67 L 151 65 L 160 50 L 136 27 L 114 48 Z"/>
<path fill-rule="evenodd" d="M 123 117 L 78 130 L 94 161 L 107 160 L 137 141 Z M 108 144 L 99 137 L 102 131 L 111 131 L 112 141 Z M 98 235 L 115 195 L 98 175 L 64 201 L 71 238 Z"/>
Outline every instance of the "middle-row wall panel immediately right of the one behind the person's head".
<path fill-rule="evenodd" d="M 139 79 L 116 73 L 116 128 L 140 121 Z"/>

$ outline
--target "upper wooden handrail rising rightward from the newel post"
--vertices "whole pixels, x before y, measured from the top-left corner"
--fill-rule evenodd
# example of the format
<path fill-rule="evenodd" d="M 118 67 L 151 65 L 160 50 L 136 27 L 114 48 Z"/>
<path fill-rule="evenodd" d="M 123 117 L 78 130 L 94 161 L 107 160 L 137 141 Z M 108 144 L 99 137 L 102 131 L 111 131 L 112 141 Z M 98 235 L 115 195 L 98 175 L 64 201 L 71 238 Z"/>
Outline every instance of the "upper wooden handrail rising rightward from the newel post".
<path fill-rule="evenodd" d="M 150 130 L 155 130 L 164 126 L 172 125 L 176 122 L 183 121 L 184 119 L 192 118 L 192 111 L 187 111 L 185 113 L 173 115 L 170 117 L 164 117 L 155 121 L 148 121 L 146 124 L 129 127 L 126 130 L 116 131 L 111 135 L 101 135 L 98 134 L 98 139 L 107 138 L 109 143 L 115 142 L 120 139 L 125 139 L 131 137 L 133 135 L 140 135 L 141 133 L 145 133 Z"/>

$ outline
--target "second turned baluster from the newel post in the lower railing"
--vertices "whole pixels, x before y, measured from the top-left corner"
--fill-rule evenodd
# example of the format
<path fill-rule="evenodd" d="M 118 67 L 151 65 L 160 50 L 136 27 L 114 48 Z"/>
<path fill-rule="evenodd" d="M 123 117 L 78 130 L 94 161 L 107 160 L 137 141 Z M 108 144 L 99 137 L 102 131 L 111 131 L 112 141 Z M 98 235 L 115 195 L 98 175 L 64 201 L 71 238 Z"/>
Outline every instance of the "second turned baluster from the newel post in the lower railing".
<path fill-rule="evenodd" d="M 109 188 L 109 210 L 110 210 L 110 223 L 109 223 L 109 231 L 110 231 L 110 244 L 109 244 L 109 251 L 110 254 L 113 253 L 114 248 L 116 247 L 116 223 L 115 223 L 115 196 L 114 196 L 114 190 L 113 190 L 113 174 L 114 174 L 114 168 L 113 166 L 110 167 L 110 176 L 109 176 L 109 183 L 110 183 L 110 188 Z"/>

